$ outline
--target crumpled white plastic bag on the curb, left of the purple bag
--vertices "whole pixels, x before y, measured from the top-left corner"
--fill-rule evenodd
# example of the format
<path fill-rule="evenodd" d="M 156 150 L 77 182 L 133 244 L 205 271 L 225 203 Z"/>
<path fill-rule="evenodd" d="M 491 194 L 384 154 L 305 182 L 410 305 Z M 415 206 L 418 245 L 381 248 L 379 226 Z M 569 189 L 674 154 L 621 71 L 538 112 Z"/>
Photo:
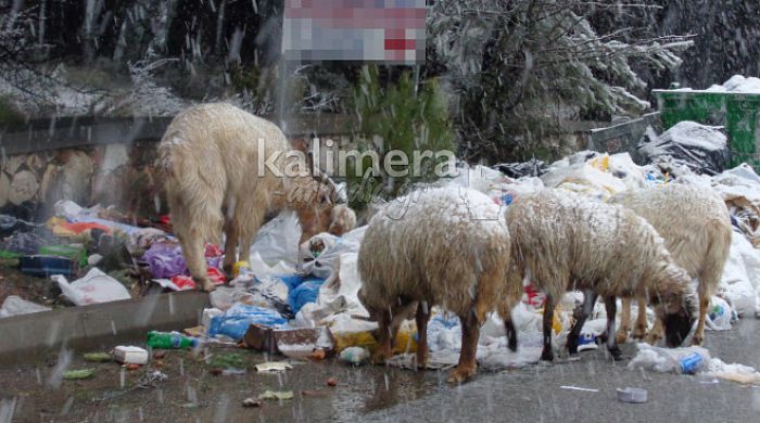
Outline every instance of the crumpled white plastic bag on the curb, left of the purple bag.
<path fill-rule="evenodd" d="M 61 274 L 54 274 L 50 278 L 59 284 L 63 296 L 77 306 L 131 298 L 122 283 L 98 268 L 90 269 L 84 278 L 72 283 Z"/>

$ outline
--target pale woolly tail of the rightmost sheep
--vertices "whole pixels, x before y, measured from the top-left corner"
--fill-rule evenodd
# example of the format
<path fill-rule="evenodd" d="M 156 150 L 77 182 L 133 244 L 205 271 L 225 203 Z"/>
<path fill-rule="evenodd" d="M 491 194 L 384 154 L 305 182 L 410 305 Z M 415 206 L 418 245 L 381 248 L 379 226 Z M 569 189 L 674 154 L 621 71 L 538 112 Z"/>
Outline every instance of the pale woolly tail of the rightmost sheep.
<path fill-rule="evenodd" d="M 699 293 L 711 297 L 718 292 L 723 268 L 729 260 L 732 230 L 729 222 L 719 220 L 708 222 L 705 230 L 710 234 L 710 241 L 699 272 Z"/>

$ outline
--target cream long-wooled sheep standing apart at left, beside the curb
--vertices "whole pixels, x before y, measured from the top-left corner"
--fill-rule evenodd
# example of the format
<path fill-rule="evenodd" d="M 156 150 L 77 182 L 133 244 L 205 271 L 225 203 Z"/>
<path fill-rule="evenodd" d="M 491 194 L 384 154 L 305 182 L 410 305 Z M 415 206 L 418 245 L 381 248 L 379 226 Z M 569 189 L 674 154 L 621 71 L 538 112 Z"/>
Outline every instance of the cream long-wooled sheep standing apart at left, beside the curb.
<path fill-rule="evenodd" d="M 199 286 L 214 289 L 203 246 L 219 243 L 223 230 L 228 272 L 238 244 L 248 258 L 266 215 L 295 210 L 302 241 L 327 230 L 335 187 L 305 164 L 277 126 L 230 104 L 195 105 L 172 120 L 159 145 L 157 168 L 175 234 Z"/>

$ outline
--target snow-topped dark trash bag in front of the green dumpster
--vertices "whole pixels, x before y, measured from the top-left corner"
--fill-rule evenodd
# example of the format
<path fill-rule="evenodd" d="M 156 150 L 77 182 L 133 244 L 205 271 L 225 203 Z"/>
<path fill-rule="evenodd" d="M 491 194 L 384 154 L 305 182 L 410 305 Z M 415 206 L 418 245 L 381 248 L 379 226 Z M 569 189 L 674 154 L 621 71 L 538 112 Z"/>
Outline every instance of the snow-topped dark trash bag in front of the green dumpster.
<path fill-rule="evenodd" d="M 720 174 L 729 161 L 727 138 L 721 128 L 688 120 L 641 144 L 638 153 L 647 162 L 670 156 L 674 164 L 705 175 Z"/>

